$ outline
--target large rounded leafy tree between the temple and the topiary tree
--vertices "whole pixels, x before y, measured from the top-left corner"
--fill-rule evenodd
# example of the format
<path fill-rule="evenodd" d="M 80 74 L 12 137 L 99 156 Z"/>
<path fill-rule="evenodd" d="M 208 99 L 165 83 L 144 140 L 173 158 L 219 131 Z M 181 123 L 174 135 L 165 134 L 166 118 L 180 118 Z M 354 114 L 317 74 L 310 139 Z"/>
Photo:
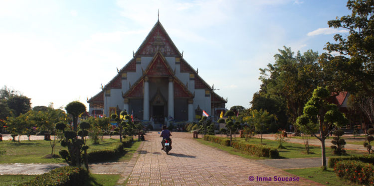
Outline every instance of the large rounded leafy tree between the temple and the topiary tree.
<path fill-rule="evenodd" d="M 308 50 L 295 55 L 291 48 L 284 47 L 274 58 L 274 64 L 260 69 L 262 85 L 253 96 L 252 109 L 267 109 L 281 119 L 279 122 L 286 122 L 283 115 L 286 113 L 288 122 L 294 123 L 303 114 L 304 104 L 313 90 L 323 82 L 318 52 Z M 286 125 L 282 123 L 280 127 Z"/>

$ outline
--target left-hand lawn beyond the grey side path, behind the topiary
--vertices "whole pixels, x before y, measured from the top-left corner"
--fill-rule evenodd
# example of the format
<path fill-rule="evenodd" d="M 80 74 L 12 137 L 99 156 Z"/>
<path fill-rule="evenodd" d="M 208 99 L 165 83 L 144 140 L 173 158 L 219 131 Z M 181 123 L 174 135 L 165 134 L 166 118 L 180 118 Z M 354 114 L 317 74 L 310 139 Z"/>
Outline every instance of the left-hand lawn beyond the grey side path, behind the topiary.
<path fill-rule="evenodd" d="M 112 149 L 119 143 L 119 139 L 104 139 L 100 144 L 92 144 L 91 140 L 87 140 L 89 146 L 88 152 L 100 149 Z M 0 164 L 3 163 L 64 163 L 61 158 L 44 158 L 51 154 L 51 147 L 49 141 L 34 140 L 34 141 L 2 141 L 0 142 L 0 149 L 5 151 L 5 154 L 0 155 Z M 66 149 L 56 144 L 55 154 L 62 149 Z"/>

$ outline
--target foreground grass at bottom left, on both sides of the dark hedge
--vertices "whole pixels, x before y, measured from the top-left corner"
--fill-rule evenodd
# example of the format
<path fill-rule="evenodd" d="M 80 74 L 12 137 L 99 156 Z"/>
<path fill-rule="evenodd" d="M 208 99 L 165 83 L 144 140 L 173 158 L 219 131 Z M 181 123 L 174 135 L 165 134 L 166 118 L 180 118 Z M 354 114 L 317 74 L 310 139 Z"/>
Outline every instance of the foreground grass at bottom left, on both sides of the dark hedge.
<path fill-rule="evenodd" d="M 14 186 L 35 178 L 36 175 L 0 175 L 0 186 Z M 90 175 L 85 186 L 115 186 L 121 175 Z"/>

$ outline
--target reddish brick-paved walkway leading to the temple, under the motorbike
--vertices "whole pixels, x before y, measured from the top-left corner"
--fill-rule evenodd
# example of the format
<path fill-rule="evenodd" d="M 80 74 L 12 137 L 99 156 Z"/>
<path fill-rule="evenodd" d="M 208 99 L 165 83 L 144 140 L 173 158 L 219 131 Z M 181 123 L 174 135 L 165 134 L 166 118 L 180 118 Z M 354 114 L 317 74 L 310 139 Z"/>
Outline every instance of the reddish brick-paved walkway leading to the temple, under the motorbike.
<path fill-rule="evenodd" d="M 204 146 L 191 139 L 192 134 L 172 134 L 173 150 L 170 155 L 166 155 L 161 151 L 161 138 L 158 137 L 160 134 L 147 133 L 147 141 L 138 149 L 139 157 L 132 160 L 132 172 L 123 174 L 118 184 L 128 178 L 127 186 L 320 185 L 306 179 L 300 179 L 299 182 L 257 182 L 256 177 L 295 176 L 255 160 Z M 255 181 L 250 182 L 250 176 L 253 176 Z"/>

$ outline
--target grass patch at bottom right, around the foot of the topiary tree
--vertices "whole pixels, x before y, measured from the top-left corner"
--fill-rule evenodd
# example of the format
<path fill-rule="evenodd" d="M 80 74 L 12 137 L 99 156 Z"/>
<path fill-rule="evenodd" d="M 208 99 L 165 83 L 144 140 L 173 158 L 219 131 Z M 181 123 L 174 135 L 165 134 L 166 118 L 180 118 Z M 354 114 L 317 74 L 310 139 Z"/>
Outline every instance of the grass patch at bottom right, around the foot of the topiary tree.
<path fill-rule="evenodd" d="M 359 186 L 354 183 L 341 180 L 336 176 L 333 169 L 328 168 L 327 171 L 321 171 L 321 168 L 306 169 L 288 169 L 284 170 L 299 177 L 303 177 L 314 182 L 318 182 L 325 186 Z"/>

